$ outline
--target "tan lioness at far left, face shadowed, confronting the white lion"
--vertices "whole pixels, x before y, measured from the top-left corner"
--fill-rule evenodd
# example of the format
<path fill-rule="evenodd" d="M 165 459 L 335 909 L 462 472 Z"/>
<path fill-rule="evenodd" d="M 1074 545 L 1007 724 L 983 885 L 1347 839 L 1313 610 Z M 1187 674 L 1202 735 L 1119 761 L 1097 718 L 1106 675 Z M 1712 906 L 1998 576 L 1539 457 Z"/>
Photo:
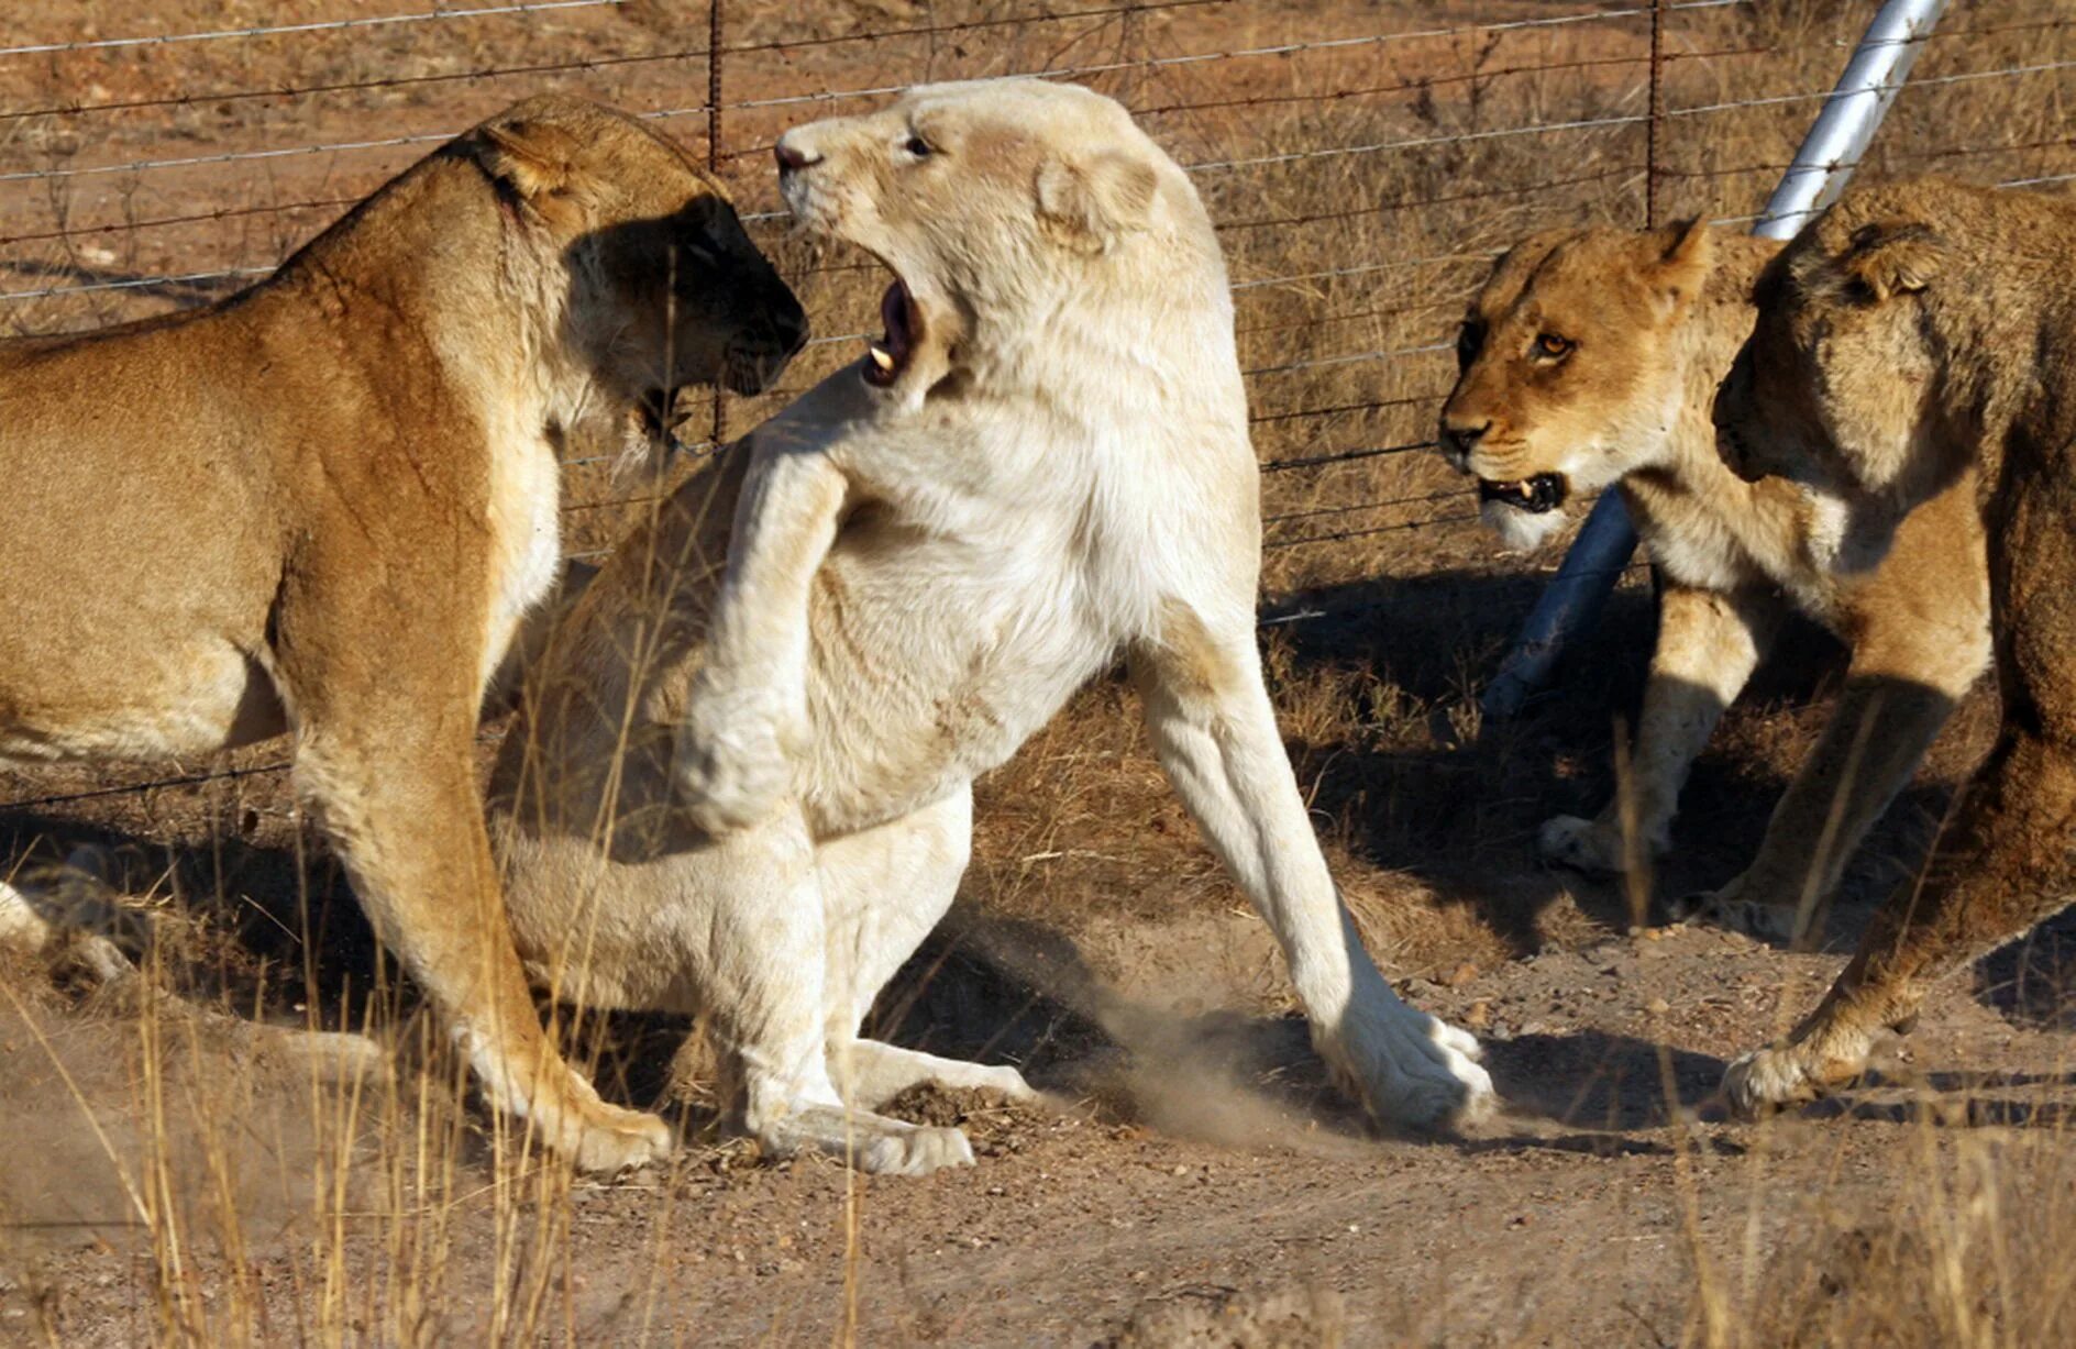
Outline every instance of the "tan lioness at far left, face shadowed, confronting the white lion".
<path fill-rule="evenodd" d="M 523 102 L 206 309 L 0 347 L 0 760 L 289 731 L 382 940 L 490 1100 L 588 1168 L 662 1121 L 542 1036 L 492 870 L 484 687 L 550 589 L 556 442 L 799 347 L 727 193 L 639 122 Z M 0 892 L 0 932 L 35 930 Z"/>

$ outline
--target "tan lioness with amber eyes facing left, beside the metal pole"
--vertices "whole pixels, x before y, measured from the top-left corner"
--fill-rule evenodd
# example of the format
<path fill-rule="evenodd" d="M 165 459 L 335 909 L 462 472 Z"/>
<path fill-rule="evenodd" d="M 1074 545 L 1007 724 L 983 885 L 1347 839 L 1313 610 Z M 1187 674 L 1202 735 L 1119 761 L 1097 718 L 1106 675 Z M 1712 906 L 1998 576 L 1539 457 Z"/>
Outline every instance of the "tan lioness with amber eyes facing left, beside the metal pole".
<path fill-rule="evenodd" d="M 1831 724 L 1752 865 L 1671 905 L 1806 938 L 1989 664 L 1989 577 L 1966 484 L 1914 515 L 1881 567 L 1841 577 L 1823 565 L 1821 513 L 1800 488 L 1740 481 L 1717 459 L 1715 386 L 1752 332 L 1752 284 L 1777 249 L 1704 224 L 1528 239 L 1472 301 L 1441 442 L 1478 475 L 1486 521 L 1522 544 L 1563 519 L 1567 496 L 1619 486 L 1665 579 L 1628 793 L 1594 820 L 1549 820 L 1547 861 L 1623 872 L 1671 847 L 1688 768 L 1790 608 L 1852 645 Z"/>

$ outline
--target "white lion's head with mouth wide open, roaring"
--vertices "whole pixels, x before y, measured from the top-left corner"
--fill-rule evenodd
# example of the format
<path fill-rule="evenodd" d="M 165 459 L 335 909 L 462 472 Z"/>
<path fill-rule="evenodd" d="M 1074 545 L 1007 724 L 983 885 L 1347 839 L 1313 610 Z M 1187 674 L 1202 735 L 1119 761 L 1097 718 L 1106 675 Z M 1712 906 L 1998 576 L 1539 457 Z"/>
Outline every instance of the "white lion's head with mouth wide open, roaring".
<path fill-rule="evenodd" d="M 1175 288 L 1175 305 L 1229 303 L 1196 189 L 1090 89 L 924 85 L 795 127 L 776 154 L 801 226 L 893 270 L 862 378 L 903 401 L 1026 361 L 1071 315 L 1152 295 L 1148 274 L 1217 278 Z"/>

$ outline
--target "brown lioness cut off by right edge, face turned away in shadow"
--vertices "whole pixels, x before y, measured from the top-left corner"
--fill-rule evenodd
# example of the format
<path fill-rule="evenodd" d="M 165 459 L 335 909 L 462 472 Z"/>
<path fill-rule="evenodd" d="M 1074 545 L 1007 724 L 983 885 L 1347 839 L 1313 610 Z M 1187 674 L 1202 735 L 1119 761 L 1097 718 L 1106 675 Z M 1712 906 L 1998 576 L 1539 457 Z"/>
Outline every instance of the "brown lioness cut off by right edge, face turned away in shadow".
<path fill-rule="evenodd" d="M 2003 728 L 1922 876 L 1823 1004 L 1731 1065 L 1744 1110 L 1856 1077 L 1927 984 L 2070 903 L 2076 878 L 2076 205 L 1914 178 L 1848 193 L 1767 268 L 1717 401 L 1723 455 L 1816 502 L 1864 575 L 1974 479 Z M 1902 521 L 1902 525 L 1897 525 Z"/>

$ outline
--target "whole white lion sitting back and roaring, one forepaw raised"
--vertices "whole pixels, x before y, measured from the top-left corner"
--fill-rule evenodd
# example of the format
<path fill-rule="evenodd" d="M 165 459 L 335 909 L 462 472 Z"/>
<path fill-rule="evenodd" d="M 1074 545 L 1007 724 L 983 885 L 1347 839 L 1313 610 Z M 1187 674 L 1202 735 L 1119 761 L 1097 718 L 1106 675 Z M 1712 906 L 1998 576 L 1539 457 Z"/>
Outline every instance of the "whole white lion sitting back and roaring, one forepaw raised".
<path fill-rule="evenodd" d="M 627 538 L 536 664 L 494 793 L 536 975 L 704 1013 L 772 1150 L 967 1162 L 870 1110 L 1023 1079 L 859 1023 L 951 905 L 972 780 L 1123 652 L 1327 1061 L 1378 1117 L 1486 1110 L 1476 1040 L 1364 953 L 1277 735 L 1233 307 L 1187 176 L 1119 104 L 1038 81 L 913 89 L 778 164 L 805 228 L 893 270 L 886 332 Z"/>

